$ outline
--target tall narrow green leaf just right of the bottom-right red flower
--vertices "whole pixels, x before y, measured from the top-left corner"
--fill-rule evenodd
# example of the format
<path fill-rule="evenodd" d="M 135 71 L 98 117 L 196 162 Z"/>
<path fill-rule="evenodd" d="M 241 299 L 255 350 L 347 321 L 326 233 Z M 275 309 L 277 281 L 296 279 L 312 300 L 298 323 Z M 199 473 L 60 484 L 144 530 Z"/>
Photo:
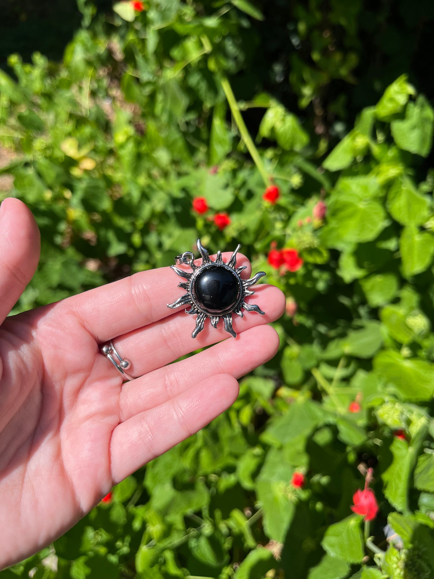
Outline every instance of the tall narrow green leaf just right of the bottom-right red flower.
<path fill-rule="evenodd" d="M 401 438 L 393 438 L 390 447 L 393 459 L 381 478 L 384 482 L 384 496 L 398 511 L 407 509 L 410 471 L 413 468 L 413 456 L 409 445 Z"/>

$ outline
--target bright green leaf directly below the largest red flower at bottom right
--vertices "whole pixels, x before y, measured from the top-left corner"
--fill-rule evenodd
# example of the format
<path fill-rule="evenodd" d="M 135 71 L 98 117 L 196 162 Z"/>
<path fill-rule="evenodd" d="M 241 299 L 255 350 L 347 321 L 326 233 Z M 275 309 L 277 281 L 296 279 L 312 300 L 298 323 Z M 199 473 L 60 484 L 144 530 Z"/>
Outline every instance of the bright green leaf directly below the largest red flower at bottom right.
<path fill-rule="evenodd" d="M 343 521 L 330 525 L 321 542 L 329 555 L 348 563 L 360 563 L 365 556 L 359 515 L 347 516 Z"/>

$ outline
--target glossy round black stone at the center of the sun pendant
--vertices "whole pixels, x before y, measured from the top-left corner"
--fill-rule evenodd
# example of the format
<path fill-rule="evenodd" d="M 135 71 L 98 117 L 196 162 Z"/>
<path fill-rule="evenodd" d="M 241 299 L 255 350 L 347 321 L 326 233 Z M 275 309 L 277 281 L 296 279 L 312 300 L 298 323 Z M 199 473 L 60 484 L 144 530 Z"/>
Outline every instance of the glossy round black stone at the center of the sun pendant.
<path fill-rule="evenodd" d="M 194 297 L 209 314 L 230 312 L 240 298 L 241 285 L 237 276 L 219 264 L 209 265 L 197 274 L 193 283 Z"/>

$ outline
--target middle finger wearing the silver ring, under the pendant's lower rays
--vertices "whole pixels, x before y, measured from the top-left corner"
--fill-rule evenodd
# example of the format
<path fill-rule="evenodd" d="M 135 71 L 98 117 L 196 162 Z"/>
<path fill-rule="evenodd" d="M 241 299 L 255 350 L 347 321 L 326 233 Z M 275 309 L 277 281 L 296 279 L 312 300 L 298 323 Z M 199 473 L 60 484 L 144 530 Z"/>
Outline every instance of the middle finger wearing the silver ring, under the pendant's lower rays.
<path fill-rule="evenodd" d="M 247 298 L 247 301 L 258 304 L 265 314 L 260 316 L 255 312 L 245 312 L 243 318 L 233 316 L 233 328 L 237 334 L 256 325 L 277 320 L 284 313 L 286 305 L 284 294 L 274 285 L 267 284 L 256 286 L 255 294 Z M 182 311 L 120 336 L 113 342 L 119 353 L 131 361 L 128 373 L 141 376 L 194 350 L 230 338 L 223 321 L 219 322 L 217 328 L 213 328 L 208 320 L 203 331 L 196 338 L 192 338 L 194 325 L 195 316 L 187 316 Z M 230 341 L 233 342 L 234 339 L 230 338 Z"/>

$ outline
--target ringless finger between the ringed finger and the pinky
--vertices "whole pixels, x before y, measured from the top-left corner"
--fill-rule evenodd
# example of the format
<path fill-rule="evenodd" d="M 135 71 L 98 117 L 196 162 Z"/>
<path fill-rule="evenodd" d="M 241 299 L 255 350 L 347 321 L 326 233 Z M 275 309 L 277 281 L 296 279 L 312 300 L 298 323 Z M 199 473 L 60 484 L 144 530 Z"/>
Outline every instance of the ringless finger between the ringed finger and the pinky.
<path fill-rule="evenodd" d="M 121 420 L 128 420 L 185 391 L 191 384 L 216 374 L 241 378 L 268 362 L 279 347 L 279 336 L 271 326 L 248 329 L 237 340 L 225 340 L 208 350 L 159 368 L 123 385 L 120 394 Z"/>

